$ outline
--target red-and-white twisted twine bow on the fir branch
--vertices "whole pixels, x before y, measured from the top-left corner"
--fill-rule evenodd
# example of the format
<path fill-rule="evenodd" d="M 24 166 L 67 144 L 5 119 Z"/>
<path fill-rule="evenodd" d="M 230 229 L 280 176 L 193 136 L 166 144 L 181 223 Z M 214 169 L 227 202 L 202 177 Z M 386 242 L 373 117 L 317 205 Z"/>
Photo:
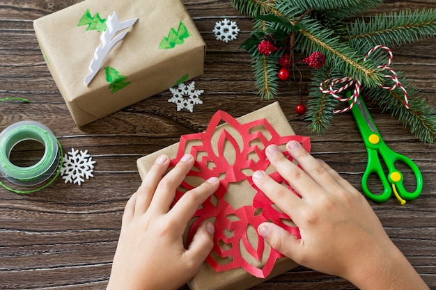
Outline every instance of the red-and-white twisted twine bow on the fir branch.
<path fill-rule="evenodd" d="M 383 84 L 380 84 L 380 87 L 384 88 L 386 90 L 395 90 L 396 88 L 399 87 L 401 90 L 403 90 L 403 93 L 404 93 L 404 105 L 405 105 L 405 107 L 410 108 L 409 100 L 407 98 L 407 90 L 405 89 L 403 84 L 400 83 L 400 81 L 398 80 L 398 74 L 396 74 L 396 72 L 394 70 L 392 70 L 391 67 L 389 67 L 389 65 L 391 65 L 391 63 L 392 63 L 392 58 L 393 58 L 393 54 L 392 54 L 391 49 L 389 49 L 389 47 L 377 45 L 377 46 L 373 47 L 370 51 L 368 51 L 368 53 L 366 54 L 366 56 L 364 58 L 364 61 L 366 61 L 368 56 L 370 56 L 370 54 L 372 54 L 377 49 L 384 49 L 389 54 L 387 64 L 386 65 L 378 65 L 377 68 L 380 70 L 387 70 L 391 75 L 384 74 L 384 77 L 387 79 L 391 79 L 391 81 L 394 82 L 394 86 L 384 86 Z M 329 88 L 327 90 L 324 89 L 326 83 L 329 83 Z M 345 83 L 345 85 L 341 86 L 340 88 L 335 89 L 334 86 L 337 85 L 338 83 Z M 350 86 L 352 86 L 352 85 L 355 85 L 355 90 L 353 91 L 353 93 L 350 97 L 346 98 L 346 97 L 341 97 L 341 96 L 337 95 L 338 93 L 341 93 L 344 90 L 350 88 Z M 360 88 L 361 88 L 361 81 L 352 79 L 351 76 L 345 76 L 343 78 L 338 78 L 338 79 L 326 79 L 325 81 L 322 81 L 322 83 L 320 83 L 321 92 L 323 92 L 325 94 L 332 95 L 335 99 L 338 99 L 341 102 L 349 102 L 350 100 L 353 100 L 353 102 L 347 108 L 333 111 L 333 113 L 335 113 L 335 114 L 336 113 L 343 113 L 343 112 L 351 110 L 351 108 L 357 102 L 357 98 L 359 97 L 359 94 L 360 94 Z"/>

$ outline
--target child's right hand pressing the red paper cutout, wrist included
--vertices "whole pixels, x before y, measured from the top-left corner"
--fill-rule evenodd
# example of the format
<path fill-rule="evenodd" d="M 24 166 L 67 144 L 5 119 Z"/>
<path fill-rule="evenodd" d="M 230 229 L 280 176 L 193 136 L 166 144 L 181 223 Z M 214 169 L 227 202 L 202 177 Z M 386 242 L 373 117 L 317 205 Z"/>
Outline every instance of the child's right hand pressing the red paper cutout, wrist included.
<path fill-rule="evenodd" d="M 391 242 L 366 199 L 299 143 L 288 152 L 304 169 L 267 147 L 267 158 L 297 193 L 274 182 L 265 172 L 253 180 L 299 227 L 301 239 L 272 223 L 258 227 L 260 235 L 297 263 L 338 275 L 360 289 L 428 289 L 407 259 Z"/>

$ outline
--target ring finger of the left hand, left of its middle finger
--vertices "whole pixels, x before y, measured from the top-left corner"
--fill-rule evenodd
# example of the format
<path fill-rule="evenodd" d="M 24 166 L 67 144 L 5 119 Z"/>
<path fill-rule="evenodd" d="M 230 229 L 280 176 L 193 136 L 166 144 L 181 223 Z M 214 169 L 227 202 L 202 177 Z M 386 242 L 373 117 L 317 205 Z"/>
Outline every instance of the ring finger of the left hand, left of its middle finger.
<path fill-rule="evenodd" d="M 162 179 L 162 175 L 166 172 L 169 166 L 169 157 L 166 155 L 159 156 L 153 166 L 150 168 L 146 177 L 144 177 L 141 186 L 139 186 L 136 193 L 137 198 L 135 202 L 134 214 L 141 216 L 144 214 L 150 202 L 153 199 L 153 195 L 156 191 L 157 185 Z"/>

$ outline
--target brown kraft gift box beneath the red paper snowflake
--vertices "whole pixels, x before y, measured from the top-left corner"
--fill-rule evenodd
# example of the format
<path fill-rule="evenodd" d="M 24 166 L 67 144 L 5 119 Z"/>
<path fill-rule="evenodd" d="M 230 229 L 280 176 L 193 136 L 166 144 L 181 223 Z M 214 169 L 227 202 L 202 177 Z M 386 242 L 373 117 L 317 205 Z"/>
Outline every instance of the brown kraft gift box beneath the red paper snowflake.
<path fill-rule="evenodd" d="M 281 108 L 277 102 L 270 104 L 269 106 L 265 106 L 258 111 L 254 111 L 253 113 L 249 113 L 248 115 L 244 115 L 237 120 L 241 124 L 244 124 L 262 118 L 265 118 L 268 122 L 270 122 L 272 127 L 274 127 L 277 133 L 279 133 L 281 136 L 295 135 L 292 127 L 290 127 L 288 120 L 283 114 L 283 111 L 281 111 Z M 214 136 L 216 132 L 221 131 L 222 129 L 231 131 L 231 127 L 227 123 L 221 124 L 214 131 Z M 176 143 L 162 150 L 154 152 L 153 154 L 149 154 L 138 159 L 137 166 L 139 168 L 139 174 L 141 175 L 141 179 L 143 179 L 143 177 L 146 175 L 146 172 L 148 172 L 150 167 L 153 166 L 153 163 L 155 162 L 157 157 L 161 154 L 168 155 L 170 159 L 175 158 L 178 152 L 178 147 L 179 143 Z M 282 150 L 284 150 L 284 148 L 282 148 Z M 231 191 L 234 191 L 235 194 L 232 194 Z M 236 206 L 236 204 L 251 204 L 251 199 L 253 198 L 252 195 L 240 194 L 249 193 L 250 191 L 252 191 L 252 188 L 247 182 L 239 184 L 233 189 L 229 186 L 228 192 L 226 193 L 226 200 L 230 204 L 232 204 L 233 207 L 238 207 Z M 228 193 L 230 193 L 230 195 L 228 195 Z M 227 196 L 229 197 L 227 198 Z M 249 232 L 249 234 L 251 234 L 251 239 L 257 239 L 256 232 L 252 231 Z M 249 236 L 249 240 L 251 239 Z M 269 245 L 266 244 L 265 247 L 269 247 Z M 249 257 L 244 258 L 247 258 L 247 260 L 249 260 Z M 265 261 L 263 259 L 261 259 L 260 262 L 251 262 L 261 268 L 261 266 L 265 264 Z M 264 282 L 265 280 L 268 280 L 274 276 L 284 273 L 292 268 L 295 268 L 296 266 L 297 264 L 294 261 L 286 257 L 279 258 L 277 259 L 276 264 L 274 264 L 274 268 L 270 275 L 265 279 L 260 279 L 258 277 L 254 277 L 243 268 L 235 268 L 224 272 L 217 272 L 207 262 L 204 262 L 196 276 L 189 282 L 189 287 L 192 290 L 245 290 L 254 287 L 256 284 L 260 284 L 261 282 Z"/>

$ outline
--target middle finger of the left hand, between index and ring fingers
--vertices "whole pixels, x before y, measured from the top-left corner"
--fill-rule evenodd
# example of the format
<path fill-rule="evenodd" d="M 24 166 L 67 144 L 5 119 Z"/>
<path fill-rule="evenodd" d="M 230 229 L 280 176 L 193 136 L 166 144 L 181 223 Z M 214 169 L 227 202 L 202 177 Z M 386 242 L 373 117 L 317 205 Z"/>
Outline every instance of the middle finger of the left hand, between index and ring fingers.
<path fill-rule="evenodd" d="M 176 189 L 185 179 L 189 170 L 194 165 L 191 154 L 183 156 L 176 166 L 171 169 L 157 184 L 155 195 L 150 204 L 150 210 L 155 214 L 166 214 L 176 195 Z"/>

